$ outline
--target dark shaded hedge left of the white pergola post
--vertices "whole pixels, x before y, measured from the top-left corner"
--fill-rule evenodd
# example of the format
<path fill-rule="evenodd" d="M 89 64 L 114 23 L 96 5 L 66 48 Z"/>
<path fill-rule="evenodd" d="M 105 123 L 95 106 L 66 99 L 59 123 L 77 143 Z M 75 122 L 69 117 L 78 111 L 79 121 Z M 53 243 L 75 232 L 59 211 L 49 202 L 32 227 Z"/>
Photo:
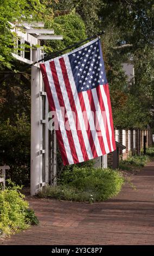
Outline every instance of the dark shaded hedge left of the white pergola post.
<path fill-rule="evenodd" d="M 16 115 L 15 124 L 10 120 L 0 122 L 0 165 L 7 164 L 7 179 L 18 185 L 30 182 L 30 123 L 23 114 Z"/>

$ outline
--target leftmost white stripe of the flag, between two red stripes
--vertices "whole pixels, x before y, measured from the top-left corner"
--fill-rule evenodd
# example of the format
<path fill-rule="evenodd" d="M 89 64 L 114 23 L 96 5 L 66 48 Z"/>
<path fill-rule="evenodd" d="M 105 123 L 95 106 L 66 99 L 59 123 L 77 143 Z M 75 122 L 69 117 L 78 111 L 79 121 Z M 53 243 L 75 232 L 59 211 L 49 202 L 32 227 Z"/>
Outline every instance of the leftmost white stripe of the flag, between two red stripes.
<path fill-rule="evenodd" d="M 58 118 L 59 124 L 60 124 L 60 130 L 61 130 L 61 133 L 62 133 L 63 144 L 65 146 L 68 162 L 69 162 L 69 164 L 72 164 L 72 163 L 74 163 L 73 156 L 72 156 L 72 151 L 70 150 L 70 145 L 69 145 L 69 142 L 68 142 L 67 132 L 65 130 L 65 123 L 64 123 L 65 120 L 63 120 L 63 116 L 62 116 L 62 113 L 61 113 L 59 99 L 57 97 L 57 93 L 56 93 L 56 89 L 55 89 L 55 83 L 54 83 L 54 80 L 53 80 L 53 75 L 52 75 L 52 72 L 51 72 L 51 69 L 50 69 L 49 62 L 46 62 L 45 66 L 46 66 L 46 71 L 47 71 L 50 90 L 51 90 L 52 95 L 53 95 L 54 105 L 55 105 L 55 109 L 56 109 L 56 112 L 57 112 L 57 118 Z"/>

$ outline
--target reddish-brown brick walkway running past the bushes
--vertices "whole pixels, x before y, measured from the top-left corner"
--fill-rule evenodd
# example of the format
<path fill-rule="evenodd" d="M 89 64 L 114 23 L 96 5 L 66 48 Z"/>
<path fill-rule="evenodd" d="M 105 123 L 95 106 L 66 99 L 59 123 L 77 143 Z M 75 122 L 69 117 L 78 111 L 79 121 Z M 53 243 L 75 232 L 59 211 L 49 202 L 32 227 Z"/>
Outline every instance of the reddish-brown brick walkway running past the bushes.
<path fill-rule="evenodd" d="M 1 240 L 0 245 L 153 245 L 154 162 L 102 203 L 29 198 L 40 225 Z"/>

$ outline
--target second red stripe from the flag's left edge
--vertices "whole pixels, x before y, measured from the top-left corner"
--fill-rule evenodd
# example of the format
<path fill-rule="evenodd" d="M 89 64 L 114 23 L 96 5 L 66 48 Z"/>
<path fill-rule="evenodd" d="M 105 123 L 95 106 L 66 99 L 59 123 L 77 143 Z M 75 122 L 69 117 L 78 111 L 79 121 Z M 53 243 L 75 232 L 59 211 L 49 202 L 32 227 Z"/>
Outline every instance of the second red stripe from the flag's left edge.
<path fill-rule="evenodd" d="M 62 92 L 61 92 L 60 83 L 59 83 L 59 77 L 57 76 L 57 71 L 56 71 L 56 68 L 55 68 L 55 62 L 54 61 L 50 62 L 50 71 L 52 71 L 53 81 L 54 81 L 54 84 L 55 84 L 56 96 L 57 96 L 57 100 L 59 101 L 59 105 L 60 105 L 60 107 L 64 107 L 64 109 L 66 110 L 64 99 L 63 99 Z M 70 130 L 66 129 L 66 125 L 68 123 L 69 123 L 70 127 L 72 126 L 70 124 L 69 120 L 67 120 L 67 115 L 69 115 L 69 113 L 67 113 L 67 115 L 66 115 L 66 113 L 65 113 L 65 117 L 64 117 L 64 120 L 65 120 L 64 129 L 66 131 L 66 135 L 67 135 L 67 139 L 68 139 L 68 143 L 69 143 L 69 148 L 70 148 L 70 151 L 72 153 L 73 161 L 74 161 L 74 163 L 78 163 L 79 159 L 78 159 L 78 154 L 76 152 L 76 147 L 75 147 L 74 140 L 73 140 L 73 134 L 72 134 L 73 131 L 71 129 Z"/>

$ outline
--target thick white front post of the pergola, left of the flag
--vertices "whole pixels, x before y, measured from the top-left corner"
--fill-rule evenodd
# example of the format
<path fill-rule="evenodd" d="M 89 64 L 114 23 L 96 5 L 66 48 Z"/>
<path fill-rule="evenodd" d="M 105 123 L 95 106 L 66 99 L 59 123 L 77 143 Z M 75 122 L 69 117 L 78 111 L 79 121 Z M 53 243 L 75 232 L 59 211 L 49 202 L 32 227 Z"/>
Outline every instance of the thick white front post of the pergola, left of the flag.
<path fill-rule="evenodd" d="M 33 61 L 38 60 L 38 50 L 33 50 Z M 42 176 L 42 125 L 40 124 L 40 69 L 31 67 L 31 166 L 30 193 L 34 196 L 40 188 Z"/>

